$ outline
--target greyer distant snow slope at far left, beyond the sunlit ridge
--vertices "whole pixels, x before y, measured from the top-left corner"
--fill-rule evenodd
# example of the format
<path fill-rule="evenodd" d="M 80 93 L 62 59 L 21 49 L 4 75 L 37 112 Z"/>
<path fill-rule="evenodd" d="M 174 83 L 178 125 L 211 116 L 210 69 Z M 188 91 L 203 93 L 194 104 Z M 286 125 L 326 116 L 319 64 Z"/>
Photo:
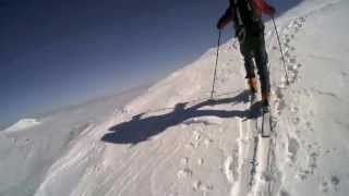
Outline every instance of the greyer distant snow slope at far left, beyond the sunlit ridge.
<path fill-rule="evenodd" d="M 103 123 L 144 89 L 104 97 L 39 118 L 20 132 L 0 132 L 0 195 L 34 195 L 49 168 L 85 130 Z"/>

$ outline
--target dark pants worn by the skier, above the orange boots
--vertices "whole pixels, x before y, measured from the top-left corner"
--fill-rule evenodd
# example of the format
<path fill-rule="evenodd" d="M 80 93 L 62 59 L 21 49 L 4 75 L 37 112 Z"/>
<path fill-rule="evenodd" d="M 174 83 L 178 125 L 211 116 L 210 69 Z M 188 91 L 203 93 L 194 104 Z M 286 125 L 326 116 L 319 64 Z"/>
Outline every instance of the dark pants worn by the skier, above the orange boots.
<path fill-rule="evenodd" d="M 244 40 L 240 40 L 240 51 L 244 60 L 246 78 L 255 77 L 253 63 L 254 58 L 260 75 L 262 93 L 269 93 L 270 81 L 267 68 L 268 54 L 265 50 L 264 29 L 258 35 L 248 35 Z"/>

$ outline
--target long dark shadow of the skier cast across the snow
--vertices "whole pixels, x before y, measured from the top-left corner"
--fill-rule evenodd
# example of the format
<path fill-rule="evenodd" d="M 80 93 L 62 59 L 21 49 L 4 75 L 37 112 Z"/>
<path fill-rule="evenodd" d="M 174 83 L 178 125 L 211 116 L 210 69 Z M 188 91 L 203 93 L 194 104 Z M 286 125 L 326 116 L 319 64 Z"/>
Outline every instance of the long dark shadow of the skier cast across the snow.
<path fill-rule="evenodd" d="M 133 144 L 149 139 L 152 136 L 166 131 L 170 126 L 183 123 L 185 120 L 200 117 L 218 118 L 242 118 L 252 119 L 260 115 L 260 112 L 251 112 L 258 103 L 246 110 L 212 110 L 201 109 L 203 107 L 239 102 L 249 102 L 250 91 L 244 90 L 232 98 L 221 98 L 216 100 L 205 100 L 192 107 L 185 108 L 188 102 L 176 105 L 174 109 L 166 114 L 142 118 L 144 113 L 134 115 L 132 120 L 122 122 L 109 128 L 112 133 L 107 133 L 101 140 L 113 144 Z"/>

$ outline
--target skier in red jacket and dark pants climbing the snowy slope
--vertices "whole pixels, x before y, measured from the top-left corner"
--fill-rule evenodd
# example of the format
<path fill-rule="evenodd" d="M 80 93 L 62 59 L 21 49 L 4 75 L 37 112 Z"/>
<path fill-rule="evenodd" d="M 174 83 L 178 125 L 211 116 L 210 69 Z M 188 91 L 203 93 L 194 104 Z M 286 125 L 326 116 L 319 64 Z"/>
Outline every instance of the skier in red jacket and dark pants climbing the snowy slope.
<path fill-rule="evenodd" d="M 264 0 L 229 0 L 229 8 L 219 19 L 217 28 L 222 29 L 228 23 L 233 22 L 236 37 L 239 39 L 240 52 L 243 56 L 248 84 L 251 91 L 257 91 L 257 81 L 254 73 L 254 64 L 257 66 L 262 103 L 269 106 L 270 81 L 267 68 L 268 56 L 265 49 L 264 24 L 262 13 L 274 15 L 275 9 Z"/>

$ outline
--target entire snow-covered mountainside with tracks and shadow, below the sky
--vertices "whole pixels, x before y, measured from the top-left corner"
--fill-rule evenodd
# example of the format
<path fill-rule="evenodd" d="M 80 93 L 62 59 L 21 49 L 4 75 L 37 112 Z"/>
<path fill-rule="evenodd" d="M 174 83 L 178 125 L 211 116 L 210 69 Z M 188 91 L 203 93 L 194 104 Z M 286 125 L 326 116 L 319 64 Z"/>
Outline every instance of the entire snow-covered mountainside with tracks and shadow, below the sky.
<path fill-rule="evenodd" d="M 277 19 L 290 85 L 266 23 L 272 137 L 250 115 L 231 39 L 220 48 L 214 101 L 210 49 L 123 107 L 92 102 L 0 132 L 0 195 L 348 195 L 348 9 L 305 0 Z"/>

